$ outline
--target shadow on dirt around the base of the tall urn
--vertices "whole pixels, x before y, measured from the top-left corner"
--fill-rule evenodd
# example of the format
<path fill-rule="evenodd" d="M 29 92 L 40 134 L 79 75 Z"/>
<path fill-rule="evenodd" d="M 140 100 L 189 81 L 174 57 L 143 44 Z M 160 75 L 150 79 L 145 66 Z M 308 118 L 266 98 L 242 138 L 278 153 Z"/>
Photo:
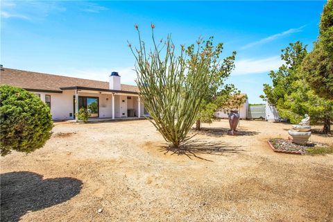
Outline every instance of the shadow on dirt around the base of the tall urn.
<path fill-rule="evenodd" d="M 201 130 L 195 130 L 194 128 L 192 129 L 193 133 L 196 133 L 198 135 L 206 135 L 208 137 L 222 137 L 223 135 L 228 135 L 228 130 L 230 128 L 208 128 L 208 127 L 203 127 Z M 258 135 L 259 132 L 257 131 L 248 131 L 248 130 L 242 130 L 242 129 L 237 129 L 239 132 L 239 136 L 253 136 L 253 135 Z M 234 136 L 234 137 L 237 137 Z"/>

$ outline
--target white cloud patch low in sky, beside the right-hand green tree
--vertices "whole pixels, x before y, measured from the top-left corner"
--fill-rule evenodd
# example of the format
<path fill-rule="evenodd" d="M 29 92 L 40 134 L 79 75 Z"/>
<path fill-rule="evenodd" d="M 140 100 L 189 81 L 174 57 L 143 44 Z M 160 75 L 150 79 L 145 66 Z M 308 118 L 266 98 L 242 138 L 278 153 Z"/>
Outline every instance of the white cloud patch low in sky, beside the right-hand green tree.
<path fill-rule="evenodd" d="M 236 67 L 232 71 L 232 76 L 241 76 L 277 70 L 283 64 L 283 61 L 280 56 L 273 56 L 262 59 L 236 60 L 234 63 Z"/>

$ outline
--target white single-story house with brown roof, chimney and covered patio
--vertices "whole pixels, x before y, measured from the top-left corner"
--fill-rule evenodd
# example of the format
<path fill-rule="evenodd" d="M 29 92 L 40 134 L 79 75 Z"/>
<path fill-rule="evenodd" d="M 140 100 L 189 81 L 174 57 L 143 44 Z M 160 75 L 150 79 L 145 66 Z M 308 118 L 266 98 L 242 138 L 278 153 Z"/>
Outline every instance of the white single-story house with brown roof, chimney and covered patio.
<path fill-rule="evenodd" d="M 121 84 L 117 72 L 103 82 L 34 71 L 1 67 L 1 85 L 22 87 L 40 96 L 51 108 L 55 120 L 76 119 L 80 108 L 87 108 L 92 118 L 144 117 L 148 113 L 140 102 L 135 85 Z"/>

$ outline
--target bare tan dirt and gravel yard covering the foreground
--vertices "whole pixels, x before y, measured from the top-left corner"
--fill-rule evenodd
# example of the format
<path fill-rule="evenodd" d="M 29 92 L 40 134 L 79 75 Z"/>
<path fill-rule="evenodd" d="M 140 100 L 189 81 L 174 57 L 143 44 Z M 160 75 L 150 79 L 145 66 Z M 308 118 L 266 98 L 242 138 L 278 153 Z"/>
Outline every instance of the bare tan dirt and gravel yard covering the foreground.
<path fill-rule="evenodd" d="M 333 155 L 274 153 L 286 123 L 203 127 L 176 152 L 146 120 L 56 123 L 40 150 L 1 157 L 1 221 L 333 221 Z"/>

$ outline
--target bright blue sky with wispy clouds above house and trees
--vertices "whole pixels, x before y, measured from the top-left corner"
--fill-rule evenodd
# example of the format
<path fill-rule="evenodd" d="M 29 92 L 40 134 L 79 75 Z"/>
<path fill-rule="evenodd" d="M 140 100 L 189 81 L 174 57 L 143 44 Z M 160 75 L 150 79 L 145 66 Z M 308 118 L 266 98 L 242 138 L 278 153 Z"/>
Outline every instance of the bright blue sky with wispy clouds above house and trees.
<path fill-rule="evenodd" d="M 172 34 L 176 45 L 214 35 L 223 56 L 237 51 L 228 79 L 260 103 L 263 83 L 278 69 L 281 49 L 300 40 L 312 48 L 325 1 L 1 1 L 4 67 L 108 80 L 119 71 L 135 84 L 134 24 L 150 42 Z"/>

